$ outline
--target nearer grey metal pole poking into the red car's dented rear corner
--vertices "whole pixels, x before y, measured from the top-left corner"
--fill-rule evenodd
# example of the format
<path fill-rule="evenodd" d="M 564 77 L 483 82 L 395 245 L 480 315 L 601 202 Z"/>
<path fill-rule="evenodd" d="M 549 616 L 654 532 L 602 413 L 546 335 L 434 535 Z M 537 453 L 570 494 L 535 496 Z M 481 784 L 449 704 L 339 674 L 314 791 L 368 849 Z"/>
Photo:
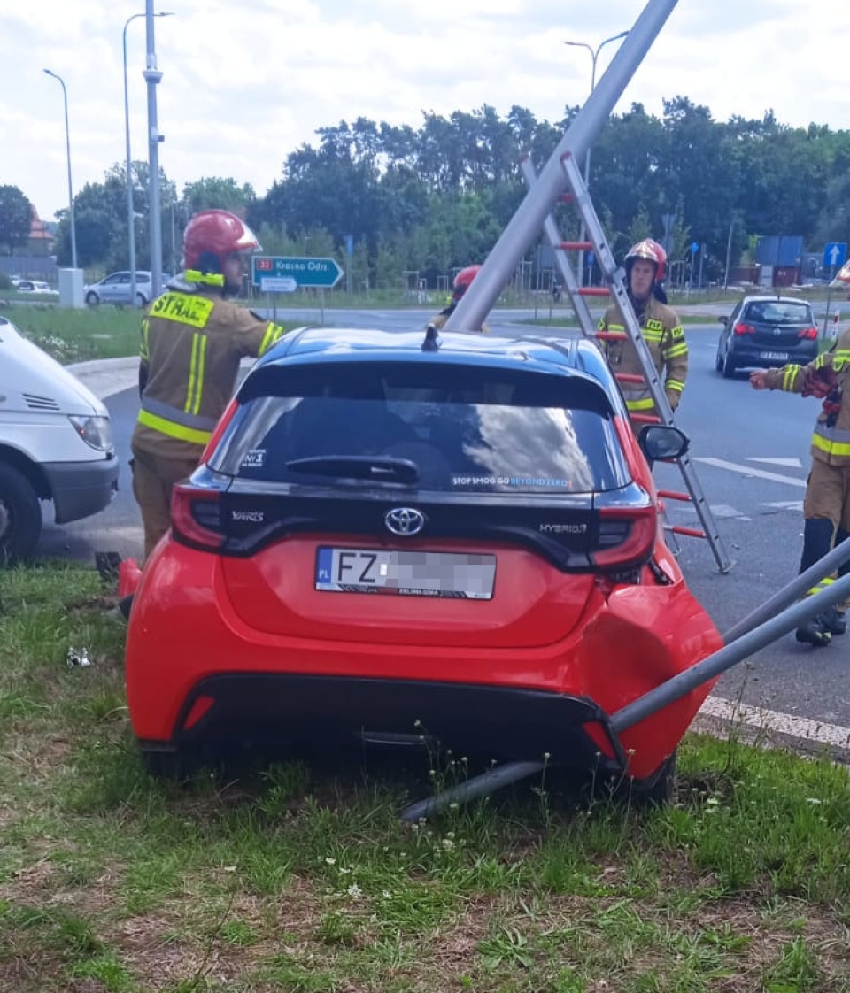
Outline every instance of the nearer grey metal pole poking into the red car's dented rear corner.
<path fill-rule="evenodd" d="M 824 560 L 821 559 L 821 562 Z M 655 689 L 649 690 L 643 696 L 633 700 L 621 710 L 618 710 L 611 717 L 611 727 L 620 734 L 638 724 L 646 717 L 668 704 L 680 699 L 692 689 L 715 676 L 720 675 L 733 665 L 743 661 L 749 655 L 761 650 L 782 635 L 787 635 L 795 628 L 798 628 L 803 621 L 807 621 L 815 614 L 822 613 L 827 607 L 834 607 L 845 597 L 850 597 L 850 575 L 842 576 L 831 586 L 805 600 L 798 601 L 793 607 L 789 607 L 777 617 L 766 621 L 758 628 L 740 635 L 730 644 L 725 645 L 719 651 L 715 651 L 708 658 L 703 658 L 701 662 L 691 666 L 684 672 L 680 672 L 672 679 L 661 683 Z"/>

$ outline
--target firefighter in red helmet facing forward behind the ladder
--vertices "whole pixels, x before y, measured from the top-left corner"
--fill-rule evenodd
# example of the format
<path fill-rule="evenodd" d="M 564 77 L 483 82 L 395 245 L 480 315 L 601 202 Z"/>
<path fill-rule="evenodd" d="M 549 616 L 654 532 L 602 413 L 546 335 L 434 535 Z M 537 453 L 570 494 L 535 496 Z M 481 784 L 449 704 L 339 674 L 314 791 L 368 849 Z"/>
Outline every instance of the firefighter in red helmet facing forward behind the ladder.
<path fill-rule="evenodd" d="M 633 245 L 624 259 L 626 286 L 629 299 L 638 319 L 638 326 L 646 348 L 659 376 L 663 378 L 664 393 L 671 410 L 679 405 L 688 373 L 688 347 L 685 333 L 676 313 L 658 299 L 656 288 L 664 278 L 666 253 L 651 238 L 644 238 Z M 666 295 L 661 290 L 663 300 Z M 626 325 L 620 308 L 611 304 L 599 322 L 599 330 L 622 339 L 606 339 L 601 343 L 612 370 L 627 375 L 645 375 L 638 358 L 638 351 L 627 336 Z M 631 414 L 643 418 L 657 417 L 655 404 L 644 383 L 624 383 L 623 395 Z M 637 426 L 637 422 L 636 422 Z"/>

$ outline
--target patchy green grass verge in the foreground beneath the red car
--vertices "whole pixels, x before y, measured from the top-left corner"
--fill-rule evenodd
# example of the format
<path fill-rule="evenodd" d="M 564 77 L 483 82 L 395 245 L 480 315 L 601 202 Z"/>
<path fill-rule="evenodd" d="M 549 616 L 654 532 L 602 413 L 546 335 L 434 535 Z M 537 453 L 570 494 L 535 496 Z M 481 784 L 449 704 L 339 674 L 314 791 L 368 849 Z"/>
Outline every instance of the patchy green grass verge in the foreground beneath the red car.
<path fill-rule="evenodd" d="M 0 572 L 4 993 L 850 991 L 826 757 L 688 735 L 664 808 L 550 770 L 416 825 L 454 775 L 424 757 L 152 780 L 114 600 L 79 565 Z"/>

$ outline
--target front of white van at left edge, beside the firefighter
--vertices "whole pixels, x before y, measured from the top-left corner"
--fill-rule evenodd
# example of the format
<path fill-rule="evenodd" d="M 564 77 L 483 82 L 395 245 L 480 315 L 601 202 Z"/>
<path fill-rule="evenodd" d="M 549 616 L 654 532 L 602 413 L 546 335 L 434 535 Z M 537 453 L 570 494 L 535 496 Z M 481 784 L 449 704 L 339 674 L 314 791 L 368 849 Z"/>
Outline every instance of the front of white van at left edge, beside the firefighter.
<path fill-rule="evenodd" d="M 0 565 L 35 551 L 41 501 L 64 524 L 102 510 L 117 489 L 106 407 L 0 317 Z"/>

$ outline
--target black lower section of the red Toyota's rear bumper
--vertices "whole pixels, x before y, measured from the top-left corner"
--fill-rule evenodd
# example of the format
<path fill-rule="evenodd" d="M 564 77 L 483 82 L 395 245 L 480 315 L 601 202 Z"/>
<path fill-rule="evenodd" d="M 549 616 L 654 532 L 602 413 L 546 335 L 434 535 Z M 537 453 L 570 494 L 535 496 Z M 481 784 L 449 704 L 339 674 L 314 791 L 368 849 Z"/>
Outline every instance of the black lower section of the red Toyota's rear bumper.
<path fill-rule="evenodd" d="M 196 721 L 196 715 L 203 716 Z M 611 760 L 585 725 L 611 742 Z M 438 744 L 455 755 L 497 762 L 539 759 L 553 765 L 622 772 L 624 750 L 612 741 L 592 700 L 538 690 L 303 674 L 223 673 L 199 682 L 185 700 L 175 736 L 139 742 L 143 751 L 180 751 L 206 741 L 300 747 Z M 663 757 L 661 757 L 663 759 Z M 660 760 L 659 760 L 660 761 Z"/>

